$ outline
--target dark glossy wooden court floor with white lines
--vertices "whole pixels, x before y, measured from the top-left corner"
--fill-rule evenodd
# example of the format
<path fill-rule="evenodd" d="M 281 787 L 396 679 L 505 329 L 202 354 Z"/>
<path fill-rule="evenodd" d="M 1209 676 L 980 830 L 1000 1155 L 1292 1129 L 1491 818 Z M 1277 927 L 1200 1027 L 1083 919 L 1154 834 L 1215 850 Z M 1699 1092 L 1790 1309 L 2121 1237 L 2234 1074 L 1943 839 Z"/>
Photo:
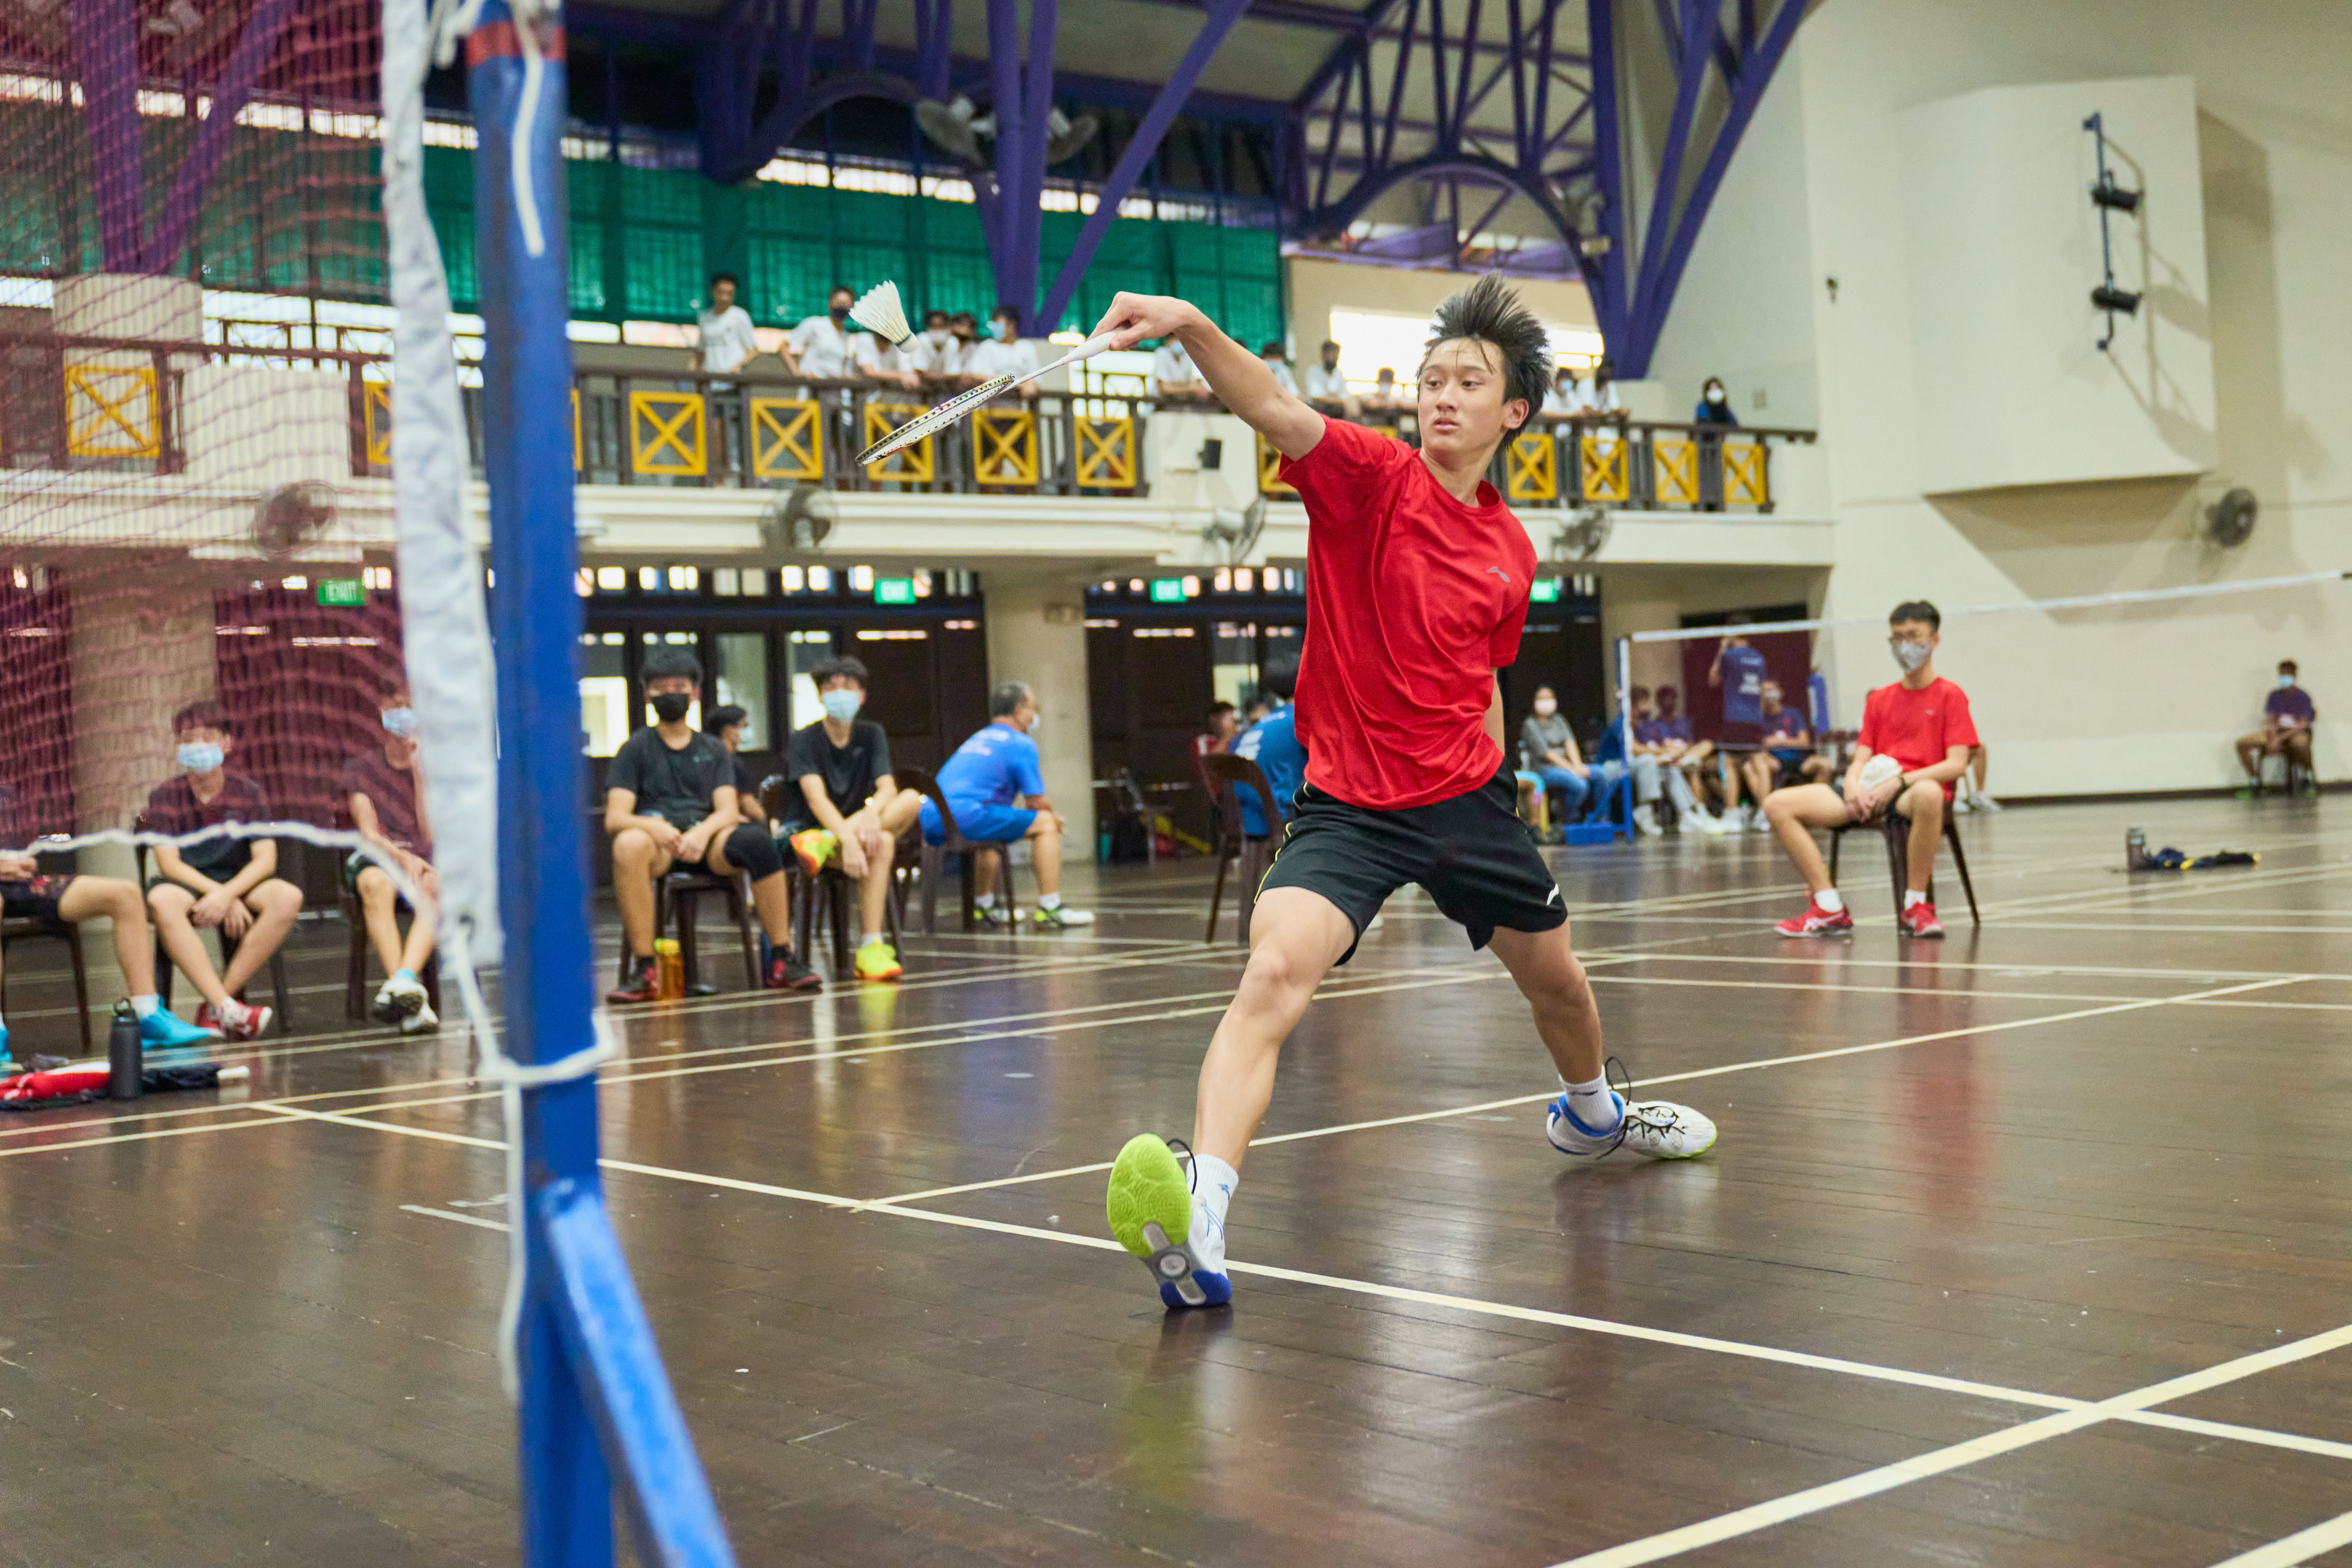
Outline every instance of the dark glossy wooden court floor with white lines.
<path fill-rule="evenodd" d="M 1966 818 L 1945 943 L 1863 842 L 1849 943 L 1771 933 L 1762 837 L 1571 851 L 1611 1048 L 1722 1124 L 1677 1166 L 1564 1168 L 1501 966 L 1399 896 L 1289 1046 L 1223 1312 L 1101 1215 L 1240 973 L 1202 863 L 898 987 L 628 1013 L 607 1190 L 743 1563 L 2352 1563 L 2347 813 Z M 2133 820 L 2263 860 L 2126 877 Z M 0 1119 L 0 1563 L 517 1561 L 463 1032 L 247 1058 Z"/>

